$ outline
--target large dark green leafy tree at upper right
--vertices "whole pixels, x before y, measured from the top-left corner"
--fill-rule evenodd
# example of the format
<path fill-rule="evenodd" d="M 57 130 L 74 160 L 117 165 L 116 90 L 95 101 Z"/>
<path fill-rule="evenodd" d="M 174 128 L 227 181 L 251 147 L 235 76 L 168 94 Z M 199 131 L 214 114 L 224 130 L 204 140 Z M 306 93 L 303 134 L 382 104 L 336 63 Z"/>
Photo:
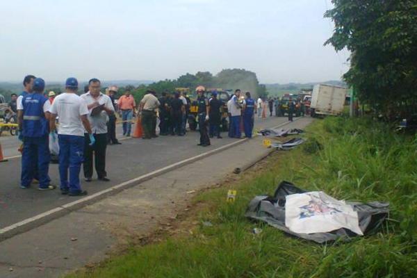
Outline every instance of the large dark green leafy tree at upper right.
<path fill-rule="evenodd" d="M 391 118 L 417 111 L 417 0 L 332 0 L 332 44 L 348 49 L 343 76 L 379 113 Z"/>

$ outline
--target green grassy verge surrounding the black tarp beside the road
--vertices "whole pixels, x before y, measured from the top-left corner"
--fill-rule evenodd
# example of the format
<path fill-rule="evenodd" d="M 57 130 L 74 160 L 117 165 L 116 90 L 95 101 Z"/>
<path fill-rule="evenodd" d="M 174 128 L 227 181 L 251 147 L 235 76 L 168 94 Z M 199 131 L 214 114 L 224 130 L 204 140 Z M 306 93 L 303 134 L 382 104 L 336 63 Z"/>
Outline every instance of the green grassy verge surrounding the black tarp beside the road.
<path fill-rule="evenodd" d="M 194 202 L 204 206 L 193 216 L 200 224 L 192 234 L 131 247 L 69 277 L 417 277 L 417 140 L 368 119 L 327 118 L 308 131 L 303 147 L 197 195 Z M 338 245 L 309 243 L 247 220 L 250 199 L 272 194 L 281 180 L 338 199 L 389 201 L 391 220 L 379 234 Z M 231 187 L 238 197 L 227 204 Z M 207 221 L 213 226 L 202 224 Z M 261 234 L 252 234 L 254 227 Z"/>

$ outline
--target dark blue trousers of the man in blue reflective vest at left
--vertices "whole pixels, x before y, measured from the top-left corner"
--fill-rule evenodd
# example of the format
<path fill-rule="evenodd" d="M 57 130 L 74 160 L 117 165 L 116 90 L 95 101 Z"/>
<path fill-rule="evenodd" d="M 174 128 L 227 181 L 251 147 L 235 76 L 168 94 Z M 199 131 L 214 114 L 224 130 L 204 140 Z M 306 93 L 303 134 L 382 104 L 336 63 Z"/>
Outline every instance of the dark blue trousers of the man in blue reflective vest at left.
<path fill-rule="evenodd" d="M 25 137 L 22 152 L 22 176 L 21 185 L 28 187 L 32 179 L 39 180 L 40 188 L 47 188 L 51 179 L 49 179 L 49 140 L 48 136 L 43 137 Z M 38 174 L 36 174 L 38 170 Z M 35 177 L 38 175 L 38 177 Z"/>

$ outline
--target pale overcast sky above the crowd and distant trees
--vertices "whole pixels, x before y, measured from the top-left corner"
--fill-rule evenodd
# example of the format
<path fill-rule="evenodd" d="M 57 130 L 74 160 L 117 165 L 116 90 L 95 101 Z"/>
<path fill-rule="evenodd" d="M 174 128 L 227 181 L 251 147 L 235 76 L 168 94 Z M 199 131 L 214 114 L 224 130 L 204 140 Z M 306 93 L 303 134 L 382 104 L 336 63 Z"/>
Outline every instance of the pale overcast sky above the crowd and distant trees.
<path fill-rule="evenodd" d="M 158 81 L 234 67 L 261 83 L 340 79 L 349 54 L 323 47 L 329 2 L 4 0 L 0 81 Z"/>

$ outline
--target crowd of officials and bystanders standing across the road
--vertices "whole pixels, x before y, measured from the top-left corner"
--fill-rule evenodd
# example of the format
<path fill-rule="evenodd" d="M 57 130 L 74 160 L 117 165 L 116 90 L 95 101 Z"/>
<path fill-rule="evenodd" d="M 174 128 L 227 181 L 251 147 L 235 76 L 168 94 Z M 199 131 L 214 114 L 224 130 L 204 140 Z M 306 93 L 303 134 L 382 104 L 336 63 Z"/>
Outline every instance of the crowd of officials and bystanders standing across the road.
<path fill-rule="evenodd" d="M 81 188 L 81 165 L 85 181 L 92 181 L 94 167 L 99 181 L 110 181 L 106 172 L 106 147 L 121 144 L 115 136 L 117 112 L 122 116 L 124 136 L 131 136 L 131 120 L 136 114 L 141 118 L 143 139 L 158 137 L 157 117 L 160 119 L 160 136 L 184 136 L 186 133 L 191 104 L 188 96 L 180 92 L 173 95 L 163 92 L 158 99 L 154 90 L 147 90 L 137 106 L 129 90 L 117 99 L 116 105 L 117 88 L 111 86 L 108 95 L 103 94 L 99 79 L 90 79 L 81 96 L 77 95 L 79 83 L 73 77 L 66 80 L 65 92 L 60 95 L 45 94 L 44 80 L 33 75 L 25 76 L 23 85 L 22 94 L 14 95 L 13 99 L 19 140 L 23 145 L 20 187 L 24 189 L 35 180 L 39 190 L 56 188 L 49 178 L 51 145 L 59 147 L 60 191 L 63 195 L 87 195 Z M 206 96 L 203 86 L 197 87 L 196 91 L 198 145 L 207 147 L 214 136 L 222 138 L 223 103 L 217 98 L 217 92 Z M 252 138 L 256 104 L 250 92 L 246 92 L 245 97 L 240 94 L 240 90 L 236 90 L 227 102 L 229 137 L 241 138 L 243 125 L 245 137 Z"/>

